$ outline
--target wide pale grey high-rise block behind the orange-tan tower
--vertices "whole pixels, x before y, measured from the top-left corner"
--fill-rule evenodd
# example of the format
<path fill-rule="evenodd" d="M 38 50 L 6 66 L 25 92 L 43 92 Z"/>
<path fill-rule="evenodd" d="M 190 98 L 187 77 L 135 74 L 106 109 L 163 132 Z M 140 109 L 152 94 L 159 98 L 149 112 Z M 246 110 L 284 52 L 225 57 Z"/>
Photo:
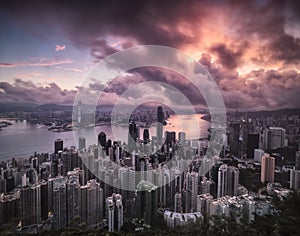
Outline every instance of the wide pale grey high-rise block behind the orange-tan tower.
<path fill-rule="evenodd" d="M 285 129 L 270 127 L 263 132 L 263 147 L 265 150 L 285 146 Z"/>

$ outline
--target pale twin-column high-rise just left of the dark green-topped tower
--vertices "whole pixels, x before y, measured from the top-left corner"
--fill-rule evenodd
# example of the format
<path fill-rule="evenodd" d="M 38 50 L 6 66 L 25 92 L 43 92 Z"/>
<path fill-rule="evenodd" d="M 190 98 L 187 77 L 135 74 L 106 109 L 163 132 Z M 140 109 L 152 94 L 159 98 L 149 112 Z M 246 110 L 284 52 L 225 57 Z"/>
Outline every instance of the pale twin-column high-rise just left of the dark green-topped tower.
<path fill-rule="evenodd" d="M 123 226 L 123 204 L 121 194 L 106 198 L 106 219 L 109 232 L 119 232 Z"/>

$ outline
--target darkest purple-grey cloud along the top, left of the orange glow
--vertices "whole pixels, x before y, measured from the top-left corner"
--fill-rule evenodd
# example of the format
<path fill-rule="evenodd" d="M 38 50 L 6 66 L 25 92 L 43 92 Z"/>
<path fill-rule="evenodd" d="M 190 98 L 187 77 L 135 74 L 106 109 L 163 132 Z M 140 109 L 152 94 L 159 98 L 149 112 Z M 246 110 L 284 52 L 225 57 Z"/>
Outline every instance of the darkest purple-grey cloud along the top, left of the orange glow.
<path fill-rule="evenodd" d="M 41 23 L 61 26 L 78 45 L 111 34 L 134 37 L 142 43 L 176 46 L 191 39 L 176 29 L 180 20 L 200 21 L 202 8 L 197 1 L 12 1 L 2 9 L 33 30 Z M 202 3 L 203 4 L 203 3 Z"/>

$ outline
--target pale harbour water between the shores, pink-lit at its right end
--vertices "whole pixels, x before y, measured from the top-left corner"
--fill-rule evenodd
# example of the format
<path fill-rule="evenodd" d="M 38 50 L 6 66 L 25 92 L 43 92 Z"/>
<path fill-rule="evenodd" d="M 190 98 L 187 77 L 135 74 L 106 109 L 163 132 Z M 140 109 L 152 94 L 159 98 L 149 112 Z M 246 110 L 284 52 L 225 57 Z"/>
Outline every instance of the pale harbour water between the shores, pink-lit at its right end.
<path fill-rule="evenodd" d="M 167 125 L 164 126 L 165 131 L 185 132 L 187 139 L 196 139 L 206 137 L 210 123 L 202 120 L 202 114 L 197 115 L 178 115 L 168 119 Z M 143 128 L 140 129 L 142 137 Z M 103 131 L 108 139 L 115 140 L 114 137 L 119 137 L 119 141 L 127 141 L 128 128 L 125 126 L 108 125 L 86 128 L 82 131 L 82 136 L 86 137 L 87 145 L 97 142 L 97 134 Z M 150 137 L 156 135 L 156 127 L 149 128 Z M 12 157 L 29 157 L 35 151 L 37 152 L 53 152 L 54 140 L 61 138 L 64 141 L 64 146 L 75 146 L 73 132 L 54 133 L 49 132 L 47 127 L 30 124 L 26 121 L 16 121 L 13 125 L 4 128 L 0 131 L 0 160 Z"/>

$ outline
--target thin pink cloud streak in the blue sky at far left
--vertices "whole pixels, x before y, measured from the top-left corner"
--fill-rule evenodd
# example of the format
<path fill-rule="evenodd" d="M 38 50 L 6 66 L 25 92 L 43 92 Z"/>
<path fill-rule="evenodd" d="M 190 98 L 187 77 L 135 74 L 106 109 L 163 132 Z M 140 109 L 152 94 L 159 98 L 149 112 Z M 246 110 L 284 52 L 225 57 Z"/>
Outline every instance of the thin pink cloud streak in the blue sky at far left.
<path fill-rule="evenodd" d="M 62 64 L 72 63 L 71 59 L 61 59 L 61 58 L 31 58 L 29 61 L 20 61 L 20 62 L 0 62 L 1 67 L 19 67 L 19 66 L 56 66 Z"/>

